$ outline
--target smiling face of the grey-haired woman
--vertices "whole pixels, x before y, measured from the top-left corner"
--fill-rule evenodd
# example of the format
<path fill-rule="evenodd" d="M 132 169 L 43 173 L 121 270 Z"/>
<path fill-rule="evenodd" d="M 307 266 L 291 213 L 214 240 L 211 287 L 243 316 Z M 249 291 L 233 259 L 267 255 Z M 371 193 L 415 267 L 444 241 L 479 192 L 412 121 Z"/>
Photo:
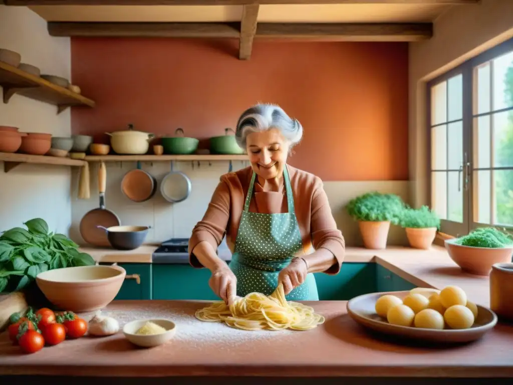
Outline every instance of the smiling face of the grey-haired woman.
<path fill-rule="evenodd" d="M 277 128 L 251 132 L 246 149 L 253 171 L 264 179 L 280 177 L 287 161 L 289 143 Z"/>

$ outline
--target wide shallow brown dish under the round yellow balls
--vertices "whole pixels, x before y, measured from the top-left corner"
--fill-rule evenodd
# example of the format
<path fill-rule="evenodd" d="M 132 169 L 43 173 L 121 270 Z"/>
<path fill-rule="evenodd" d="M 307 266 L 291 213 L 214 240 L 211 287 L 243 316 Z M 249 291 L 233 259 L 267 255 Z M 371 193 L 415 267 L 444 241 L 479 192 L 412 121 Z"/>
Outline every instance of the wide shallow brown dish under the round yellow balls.
<path fill-rule="evenodd" d="M 385 294 L 391 294 L 403 299 L 410 294 L 410 292 L 371 293 L 354 297 L 347 302 L 347 313 L 353 320 L 364 326 L 364 328 L 378 333 L 405 338 L 407 340 L 425 342 L 458 343 L 475 341 L 480 339 L 486 332 L 493 329 L 497 323 L 497 315 L 494 312 L 486 307 L 477 305 L 478 317 L 470 329 L 432 330 L 414 328 L 413 326 L 391 325 L 374 310 L 378 298 Z"/>

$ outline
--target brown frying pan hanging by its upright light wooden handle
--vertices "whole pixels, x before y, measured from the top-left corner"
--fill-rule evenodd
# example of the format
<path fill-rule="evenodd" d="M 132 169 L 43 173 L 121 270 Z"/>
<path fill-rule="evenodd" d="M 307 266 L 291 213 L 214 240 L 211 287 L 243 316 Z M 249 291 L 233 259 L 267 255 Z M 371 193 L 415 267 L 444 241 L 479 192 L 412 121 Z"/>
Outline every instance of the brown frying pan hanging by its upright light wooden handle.
<path fill-rule="evenodd" d="M 93 246 L 110 247 L 107 233 L 97 226 L 111 227 L 121 225 L 120 218 L 111 210 L 105 208 L 105 185 L 107 184 L 107 170 L 105 163 L 100 162 L 98 169 L 98 192 L 100 192 L 100 208 L 94 208 L 80 221 L 80 235 L 87 243 Z"/>

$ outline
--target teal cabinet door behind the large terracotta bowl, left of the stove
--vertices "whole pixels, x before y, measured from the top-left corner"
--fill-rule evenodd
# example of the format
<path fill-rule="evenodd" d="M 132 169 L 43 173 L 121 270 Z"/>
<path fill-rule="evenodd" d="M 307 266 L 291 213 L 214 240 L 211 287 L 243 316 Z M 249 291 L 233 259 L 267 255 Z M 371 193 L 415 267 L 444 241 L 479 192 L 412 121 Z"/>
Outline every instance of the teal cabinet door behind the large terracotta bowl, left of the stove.
<path fill-rule="evenodd" d="M 101 264 L 111 265 L 112 263 Z M 119 263 L 119 265 L 126 270 L 127 275 L 120 292 L 114 299 L 152 299 L 151 263 Z"/>

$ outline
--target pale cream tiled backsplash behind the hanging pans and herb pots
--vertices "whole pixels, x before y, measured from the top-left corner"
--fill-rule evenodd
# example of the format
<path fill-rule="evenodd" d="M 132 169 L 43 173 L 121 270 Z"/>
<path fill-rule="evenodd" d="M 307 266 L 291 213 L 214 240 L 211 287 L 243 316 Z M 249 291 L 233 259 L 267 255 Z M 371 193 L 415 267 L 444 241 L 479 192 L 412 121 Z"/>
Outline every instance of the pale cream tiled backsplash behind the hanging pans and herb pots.
<path fill-rule="evenodd" d="M 99 163 L 90 163 L 91 197 L 88 200 L 77 198 L 77 170 L 73 171 L 71 190 L 72 225 L 70 236 L 77 243 L 84 243 L 78 226 L 87 211 L 99 206 L 97 169 Z M 237 170 L 248 165 L 247 162 L 233 161 L 232 168 Z M 160 194 L 160 183 L 171 170 L 170 162 L 141 162 L 144 170 L 157 180 L 157 191 L 148 201 L 135 203 L 123 195 L 121 181 L 136 162 L 108 162 L 106 185 L 106 208 L 119 216 L 123 225 L 150 225 L 146 243 L 160 243 L 169 238 L 189 238 L 194 225 L 202 219 L 212 193 L 219 183 L 221 175 L 228 172 L 229 162 L 174 162 L 173 170 L 180 170 L 191 180 L 190 196 L 179 203 L 169 203 Z M 324 188 L 328 196 L 333 216 L 346 238 L 347 245 L 360 244 L 358 226 L 345 213 L 344 205 L 354 196 L 368 190 L 379 189 L 383 192 L 394 192 L 407 200 L 407 181 L 371 181 L 371 182 L 325 182 Z M 389 241 L 393 244 L 404 244 L 404 230 L 392 226 Z"/>

